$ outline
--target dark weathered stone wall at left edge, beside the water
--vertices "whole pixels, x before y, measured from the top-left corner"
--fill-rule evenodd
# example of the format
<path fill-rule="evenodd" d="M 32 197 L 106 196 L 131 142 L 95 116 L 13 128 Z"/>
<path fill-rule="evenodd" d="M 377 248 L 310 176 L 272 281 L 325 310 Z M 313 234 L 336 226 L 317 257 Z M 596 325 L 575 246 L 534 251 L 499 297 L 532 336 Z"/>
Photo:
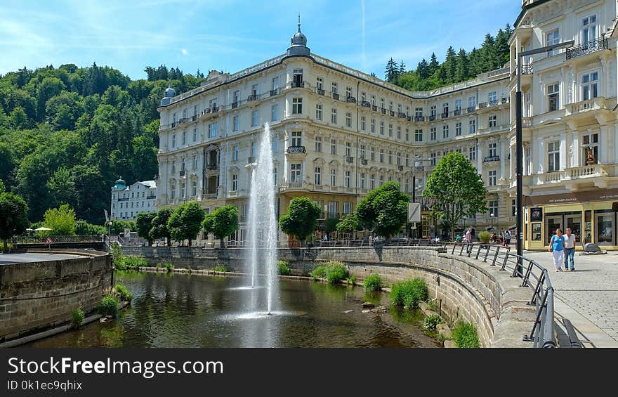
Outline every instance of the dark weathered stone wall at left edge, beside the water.
<path fill-rule="evenodd" d="M 112 286 L 109 254 L 52 252 L 87 257 L 0 266 L 0 341 L 67 323 L 78 307 L 91 312 Z"/>

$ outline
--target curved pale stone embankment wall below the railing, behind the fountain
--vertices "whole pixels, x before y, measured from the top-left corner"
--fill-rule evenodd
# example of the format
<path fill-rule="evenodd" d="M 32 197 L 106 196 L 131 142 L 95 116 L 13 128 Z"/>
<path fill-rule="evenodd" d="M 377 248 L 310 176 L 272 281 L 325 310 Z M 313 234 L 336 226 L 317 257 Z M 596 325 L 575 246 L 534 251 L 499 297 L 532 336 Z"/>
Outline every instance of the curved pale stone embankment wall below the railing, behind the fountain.
<path fill-rule="evenodd" d="M 143 256 L 153 266 L 171 262 L 174 266 L 208 269 L 225 265 L 229 271 L 247 272 L 246 249 L 203 249 L 202 247 L 123 247 L 123 252 Z M 532 290 L 519 287 L 499 266 L 480 260 L 447 254 L 442 247 L 339 247 L 279 249 L 278 258 L 289 262 L 294 275 L 306 275 L 320 261 L 343 261 L 357 280 L 371 273 L 383 283 L 420 277 L 426 281 L 430 299 L 441 303 L 442 313 L 451 320 L 476 325 L 482 346 L 532 347 L 522 336 L 532 330 L 534 306 L 527 306 Z"/>

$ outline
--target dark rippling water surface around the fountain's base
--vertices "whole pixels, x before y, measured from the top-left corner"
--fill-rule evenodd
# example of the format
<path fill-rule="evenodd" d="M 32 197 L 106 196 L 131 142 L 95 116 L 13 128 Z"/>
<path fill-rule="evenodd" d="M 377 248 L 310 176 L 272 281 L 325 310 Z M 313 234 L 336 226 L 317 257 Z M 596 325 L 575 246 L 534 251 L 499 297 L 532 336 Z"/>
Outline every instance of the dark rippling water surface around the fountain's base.
<path fill-rule="evenodd" d="M 280 280 L 280 311 L 254 316 L 246 302 L 264 289 L 240 277 L 117 272 L 133 293 L 120 318 L 91 323 L 30 347 L 440 347 L 423 332 L 423 315 L 389 309 L 388 294 L 360 287 Z M 256 294 L 256 296 L 251 296 Z M 362 313 L 362 302 L 386 313 Z"/>

